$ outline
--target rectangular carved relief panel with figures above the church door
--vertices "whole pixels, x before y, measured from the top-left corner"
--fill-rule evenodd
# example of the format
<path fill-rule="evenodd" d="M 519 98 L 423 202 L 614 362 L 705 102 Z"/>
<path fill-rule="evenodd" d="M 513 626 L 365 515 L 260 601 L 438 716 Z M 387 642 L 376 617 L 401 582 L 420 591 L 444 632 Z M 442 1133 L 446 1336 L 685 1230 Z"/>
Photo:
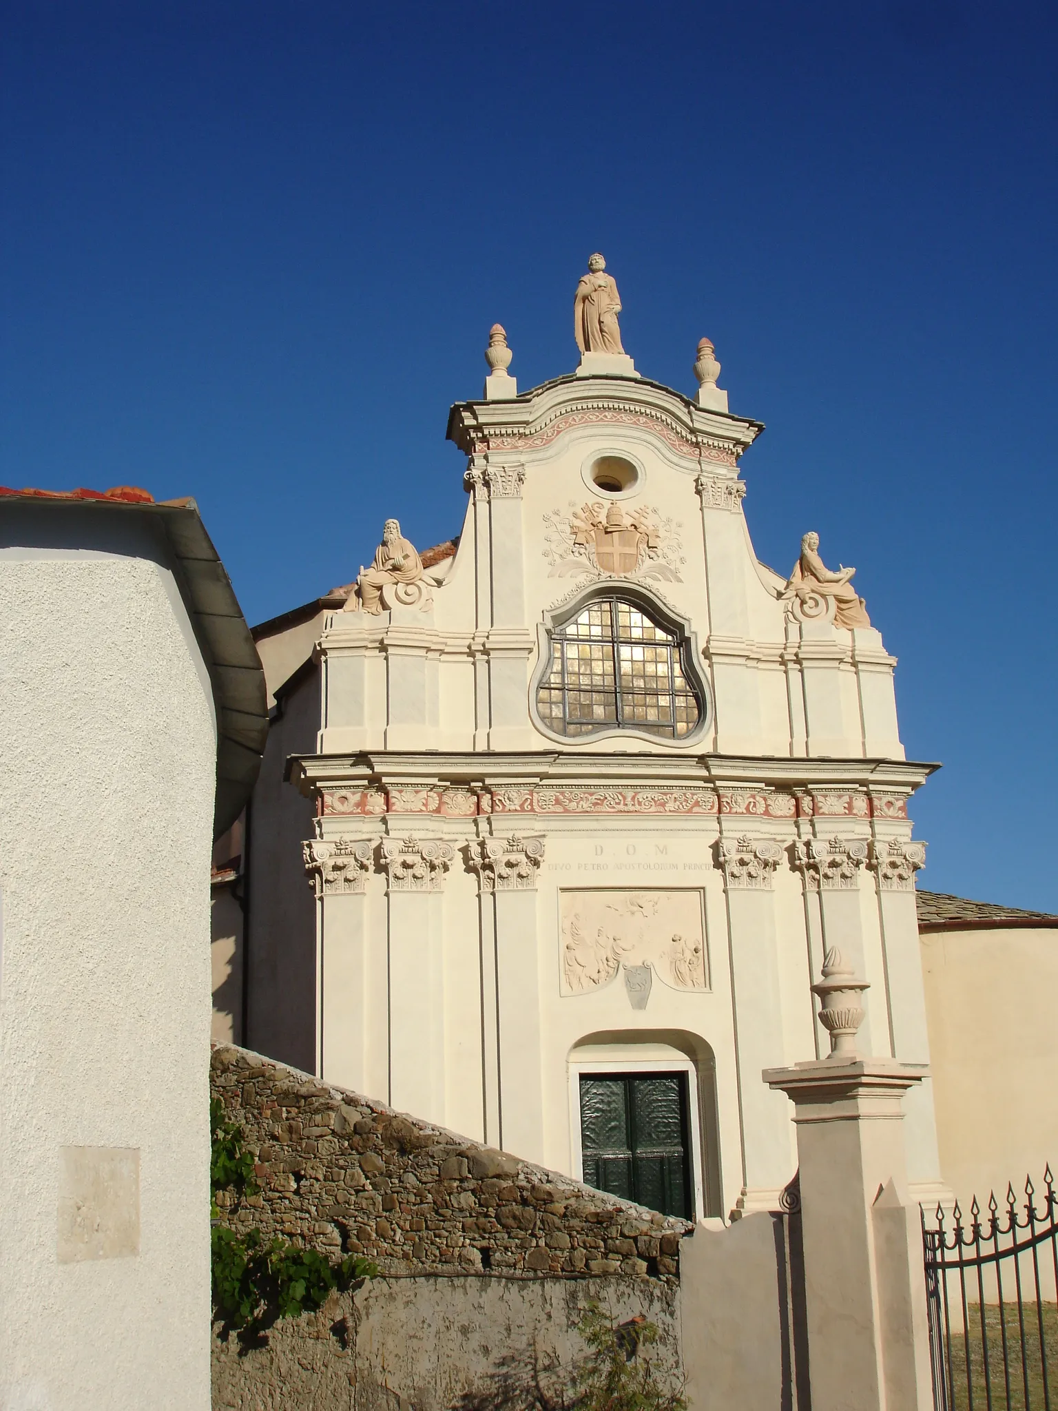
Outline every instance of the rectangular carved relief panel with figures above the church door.
<path fill-rule="evenodd" d="M 559 904 L 563 995 L 643 967 L 671 989 L 708 989 L 701 892 L 577 889 L 561 892 Z"/>

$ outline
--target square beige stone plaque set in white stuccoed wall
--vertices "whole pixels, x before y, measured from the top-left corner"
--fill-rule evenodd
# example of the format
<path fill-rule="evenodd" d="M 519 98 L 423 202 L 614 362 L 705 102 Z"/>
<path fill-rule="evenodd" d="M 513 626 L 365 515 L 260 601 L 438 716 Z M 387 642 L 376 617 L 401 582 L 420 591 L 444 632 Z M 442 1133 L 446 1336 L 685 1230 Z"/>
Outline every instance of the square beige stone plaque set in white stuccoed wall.
<path fill-rule="evenodd" d="M 140 1253 L 140 1149 L 59 1147 L 61 1264 Z"/>

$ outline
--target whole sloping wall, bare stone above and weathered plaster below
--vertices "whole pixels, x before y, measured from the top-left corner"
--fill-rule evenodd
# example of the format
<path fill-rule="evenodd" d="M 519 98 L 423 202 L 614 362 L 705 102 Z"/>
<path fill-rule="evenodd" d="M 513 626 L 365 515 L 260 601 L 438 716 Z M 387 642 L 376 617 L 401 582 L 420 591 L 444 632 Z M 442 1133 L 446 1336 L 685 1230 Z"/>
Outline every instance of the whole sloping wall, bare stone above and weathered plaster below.
<path fill-rule="evenodd" d="M 381 1270 L 255 1345 L 217 1328 L 216 1408 L 518 1405 L 519 1379 L 568 1374 L 590 1300 L 656 1322 L 659 1366 L 679 1379 L 688 1222 L 243 1048 L 216 1046 L 210 1079 L 257 1153 L 261 1192 L 230 1223 Z"/>

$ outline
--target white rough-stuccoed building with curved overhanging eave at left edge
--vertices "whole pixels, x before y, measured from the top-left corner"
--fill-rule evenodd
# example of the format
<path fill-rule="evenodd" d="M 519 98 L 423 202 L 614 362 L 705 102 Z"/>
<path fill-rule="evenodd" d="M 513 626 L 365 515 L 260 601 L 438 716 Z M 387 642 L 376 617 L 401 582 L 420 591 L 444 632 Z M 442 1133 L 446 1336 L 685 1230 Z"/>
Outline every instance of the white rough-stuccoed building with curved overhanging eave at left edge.
<path fill-rule="evenodd" d="M 203 656 L 192 577 L 243 665 L 223 632 Z M 209 852 L 224 739 L 265 722 L 255 662 L 193 502 L 0 498 L 13 1411 L 210 1404 Z"/>

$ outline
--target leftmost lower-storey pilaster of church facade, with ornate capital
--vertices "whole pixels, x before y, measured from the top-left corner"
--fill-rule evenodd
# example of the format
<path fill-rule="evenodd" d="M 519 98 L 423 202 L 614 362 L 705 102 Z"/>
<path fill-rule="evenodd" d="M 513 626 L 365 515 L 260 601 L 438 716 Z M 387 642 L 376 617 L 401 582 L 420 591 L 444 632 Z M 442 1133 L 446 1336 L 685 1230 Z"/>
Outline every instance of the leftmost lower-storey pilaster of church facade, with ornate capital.
<path fill-rule="evenodd" d="M 319 902 L 317 1072 L 365 1092 L 364 889 L 374 842 L 312 838 L 302 852 Z"/>

